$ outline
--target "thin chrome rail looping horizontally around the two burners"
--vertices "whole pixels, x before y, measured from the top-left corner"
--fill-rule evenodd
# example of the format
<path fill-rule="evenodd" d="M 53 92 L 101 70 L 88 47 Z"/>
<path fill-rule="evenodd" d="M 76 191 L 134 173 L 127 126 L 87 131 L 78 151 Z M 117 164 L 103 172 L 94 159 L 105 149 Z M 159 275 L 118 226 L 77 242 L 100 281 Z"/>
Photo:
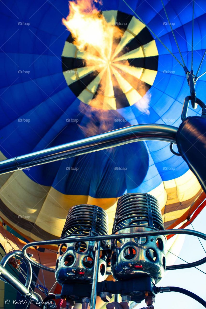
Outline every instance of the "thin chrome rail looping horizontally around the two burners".
<path fill-rule="evenodd" d="M 186 229 L 172 229 L 172 230 L 160 230 L 160 231 L 144 231 L 144 232 L 136 232 L 136 233 L 127 233 L 127 234 L 121 234 L 121 238 L 130 238 L 130 237 L 144 237 L 144 236 L 159 236 L 159 235 L 173 235 L 173 234 L 185 234 L 185 235 L 192 235 L 196 237 L 200 237 L 204 240 L 206 240 L 206 235 L 193 231 L 193 230 L 186 230 Z M 101 241 L 106 239 L 116 239 L 117 235 L 98 235 L 98 236 L 81 236 L 81 241 Z M 54 239 L 54 240 L 41 240 L 41 241 L 34 241 L 32 243 L 27 243 L 23 249 L 22 253 L 24 257 L 34 266 L 37 266 L 41 269 L 48 270 L 50 272 L 55 272 L 55 269 L 44 266 L 42 264 L 37 263 L 36 261 L 32 260 L 28 254 L 27 249 L 34 246 L 45 246 L 45 245 L 54 245 L 54 244 L 61 244 L 61 243 L 75 243 L 79 241 L 79 237 L 76 236 L 69 236 L 67 238 L 62 239 Z M 206 256 L 198 261 L 187 263 L 187 264 L 178 264 L 178 265 L 170 265 L 166 266 L 166 270 L 173 270 L 173 269 L 182 269 L 182 268 L 190 268 L 195 267 L 201 264 L 204 264 L 206 262 Z"/>

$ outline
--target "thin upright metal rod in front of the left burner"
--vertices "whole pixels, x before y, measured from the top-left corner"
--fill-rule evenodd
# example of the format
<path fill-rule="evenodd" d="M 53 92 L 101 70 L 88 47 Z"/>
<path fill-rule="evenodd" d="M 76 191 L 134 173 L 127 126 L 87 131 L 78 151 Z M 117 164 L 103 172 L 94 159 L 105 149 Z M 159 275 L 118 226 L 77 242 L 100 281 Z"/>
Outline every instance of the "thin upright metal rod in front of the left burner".
<path fill-rule="evenodd" d="M 100 241 L 97 241 L 95 259 L 94 259 L 94 273 L 93 273 L 93 280 L 92 280 L 90 309 L 95 309 L 96 307 L 97 281 L 98 281 L 98 273 L 99 273 L 99 255 L 100 255 Z"/>

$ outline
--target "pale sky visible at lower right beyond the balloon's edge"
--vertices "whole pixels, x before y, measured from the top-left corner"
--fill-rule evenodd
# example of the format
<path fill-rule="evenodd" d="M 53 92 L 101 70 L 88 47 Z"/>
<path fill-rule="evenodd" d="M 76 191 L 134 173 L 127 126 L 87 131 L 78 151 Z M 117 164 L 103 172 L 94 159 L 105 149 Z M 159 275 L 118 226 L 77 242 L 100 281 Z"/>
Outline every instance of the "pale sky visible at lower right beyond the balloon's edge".
<path fill-rule="evenodd" d="M 206 207 L 198 215 L 198 217 L 192 222 L 192 225 L 196 231 L 206 233 Z M 191 225 L 187 229 L 192 229 Z M 201 240 L 205 250 L 206 244 L 204 240 Z M 205 256 L 205 252 L 197 237 L 187 235 L 182 246 L 182 250 L 179 253 L 179 257 L 192 262 L 200 260 Z M 177 258 L 175 264 L 184 263 Z M 198 266 L 206 273 L 206 263 Z M 166 272 L 165 277 L 157 284 L 157 286 L 178 286 L 184 289 L 190 290 L 197 294 L 201 298 L 206 300 L 206 275 L 195 268 L 170 270 Z M 146 304 L 142 302 L 135 308 L 146 307 Z M 204 308 L 200 303 L 196 302 L 192 298 L 176 293 L 159 293 L 155 298 L 155 309 L 201 309 Z"/>

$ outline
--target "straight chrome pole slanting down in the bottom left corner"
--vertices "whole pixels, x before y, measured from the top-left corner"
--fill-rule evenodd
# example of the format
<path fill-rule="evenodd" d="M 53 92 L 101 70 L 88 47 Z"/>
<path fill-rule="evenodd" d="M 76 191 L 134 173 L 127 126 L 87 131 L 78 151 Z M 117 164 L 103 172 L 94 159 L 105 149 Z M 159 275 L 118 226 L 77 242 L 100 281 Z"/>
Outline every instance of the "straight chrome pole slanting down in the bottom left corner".
<path fill-rule="evenodd" d="M 19 280 L 11 275 L 2 265 L 0 265 L 0 277 L 2 277 L 7 283 L 9 283 L 15 290 L 22 294 L 25 298 L 33 300 L 37 303 L 37 306 L 41 306 L 41 300 L 35 295 L 30 295 L 30 290 L 24 286 Z"/>

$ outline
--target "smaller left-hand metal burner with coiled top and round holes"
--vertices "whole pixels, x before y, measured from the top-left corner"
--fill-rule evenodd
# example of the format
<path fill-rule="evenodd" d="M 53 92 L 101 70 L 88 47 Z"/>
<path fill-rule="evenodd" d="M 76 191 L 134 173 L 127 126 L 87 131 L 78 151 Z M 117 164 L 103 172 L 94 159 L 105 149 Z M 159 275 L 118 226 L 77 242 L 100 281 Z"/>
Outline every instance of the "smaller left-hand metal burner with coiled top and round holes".
<path fill-rule="evenodd" d="M 61 238 L 79 236 L 77 243 L 63 243 L 58 250 L 55 276 L 59 284 L 71 281 L 92 283 L 96 241 L 82 242 L 82 236 L 108 235 L 108 215 L 95 205 L 76 205 L 68 212 Z M 99 258 L 98 281 L 105 280 L 107 267 L 106 250 Z"/>

